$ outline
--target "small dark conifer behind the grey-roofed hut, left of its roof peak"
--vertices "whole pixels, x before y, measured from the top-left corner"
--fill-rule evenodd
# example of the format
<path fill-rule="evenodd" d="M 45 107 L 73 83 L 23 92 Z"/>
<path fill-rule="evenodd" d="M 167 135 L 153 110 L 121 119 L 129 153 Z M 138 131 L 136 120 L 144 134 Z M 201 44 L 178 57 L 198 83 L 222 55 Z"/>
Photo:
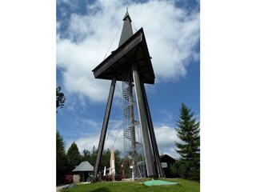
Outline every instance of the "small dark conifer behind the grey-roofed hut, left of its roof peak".
<path fill-rule="evenodd" d="M 68 170 L 71 174 L 72 170 L 74 170 L 74 168 L 82 162 L 82 156 L 79 153 L 78 146 L 75 144 L 75 142 L 73 142 L 70 148 L 67 150 L 66 157 L 69 165 Z"/>

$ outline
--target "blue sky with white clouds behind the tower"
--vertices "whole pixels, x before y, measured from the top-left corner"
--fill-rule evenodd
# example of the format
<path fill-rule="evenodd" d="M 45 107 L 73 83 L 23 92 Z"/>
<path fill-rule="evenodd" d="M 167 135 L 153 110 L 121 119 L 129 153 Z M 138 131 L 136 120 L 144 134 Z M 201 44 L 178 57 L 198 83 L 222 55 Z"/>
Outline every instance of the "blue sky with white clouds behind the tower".
<path fill-rule="evenodd" d="M 91 70 L 118 47 L 126 6 L 134 32 L 143 27 L 152 57 L 156 79 L 154 85 L 146 85 L 146 93 L 159 151 L 178 158 L 174 128 L 181 103 L 200 121 L 198 1 L 58 0 L 56 86 L 62 86 L 66 104 L 56 114 L 57 129 L 66 149 L 72 142 L 81 152 L 98 147 L 110 81 L 95 79 Z M 105 145 L 110 148 L 117 138 L 118 150 L 122 150 L 121 89 L 118 83 Z"/>

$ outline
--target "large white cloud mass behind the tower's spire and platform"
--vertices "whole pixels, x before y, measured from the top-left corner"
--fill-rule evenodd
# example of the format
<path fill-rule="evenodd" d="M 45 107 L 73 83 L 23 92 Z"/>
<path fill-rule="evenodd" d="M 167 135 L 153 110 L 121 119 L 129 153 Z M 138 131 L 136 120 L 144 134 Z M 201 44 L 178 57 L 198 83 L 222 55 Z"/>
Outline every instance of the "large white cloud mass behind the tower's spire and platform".
<path fill-rule="evenodd" d="M 125 8 L 118 0 L 96 1 L 86 7 L 91 14 L 71 14 L 67 38 L 57 35 L 57 65 L 63 70 L 67 92 L 93 102 L 106 101 L 110 81 L 94 79 L 91 70 L 102 62 L 122 26 Z M 185 10 L 165 1 L 133 2 L 129 12 L 136 28 L 144 28 L 158 81 L 186 76 L 187 59 L 198 58 L 193 48 L 199 40 L 199 14 L 187 16 Z M 120 33 L 110 51 L 117 48 Z"/>

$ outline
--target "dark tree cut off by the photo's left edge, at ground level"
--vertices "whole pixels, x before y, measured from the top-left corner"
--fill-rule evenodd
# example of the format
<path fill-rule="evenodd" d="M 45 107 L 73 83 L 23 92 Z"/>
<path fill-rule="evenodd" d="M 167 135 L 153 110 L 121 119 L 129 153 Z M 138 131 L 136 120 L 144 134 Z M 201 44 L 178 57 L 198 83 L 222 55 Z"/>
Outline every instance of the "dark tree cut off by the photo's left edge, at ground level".
<path fill-rule="evenodd" d="M 56 182 L 61 182 L 64 174 L 66 174 L 66 150 L 63 138 L 56 133 Z"/>

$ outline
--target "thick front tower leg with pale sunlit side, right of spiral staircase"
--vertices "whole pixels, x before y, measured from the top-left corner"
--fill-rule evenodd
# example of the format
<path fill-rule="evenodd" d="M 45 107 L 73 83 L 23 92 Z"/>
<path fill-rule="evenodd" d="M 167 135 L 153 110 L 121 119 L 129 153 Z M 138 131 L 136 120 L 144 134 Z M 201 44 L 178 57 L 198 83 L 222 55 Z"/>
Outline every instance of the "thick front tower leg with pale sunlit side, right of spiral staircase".
<path fill-rule="evenodd" d="M 146 172 L 148 177 L 154 177 L 155 174 L 155 166 L 154 166 L 154 157 L 152 154 L 152 149 L 150 146 L 150 138 L 148 132 L 148 125 L 146 121 L 146 107 L 145 102 L 143 101 L 142 95 L 142 87 L 141 81 L 138 74 L 138 65 L 134 63 L 132 65 L 133 70 L 133 78 L 134 78 L 134 86 L 135 86 L 135 93 L 138 105 L 138 116 L 141 122 L 141 130 L 142 130 L 142 138 L 143 138 L 143 147 L 144 147 L 144 154 L 145 154 L 145 162 L 146 162 Z"/>

